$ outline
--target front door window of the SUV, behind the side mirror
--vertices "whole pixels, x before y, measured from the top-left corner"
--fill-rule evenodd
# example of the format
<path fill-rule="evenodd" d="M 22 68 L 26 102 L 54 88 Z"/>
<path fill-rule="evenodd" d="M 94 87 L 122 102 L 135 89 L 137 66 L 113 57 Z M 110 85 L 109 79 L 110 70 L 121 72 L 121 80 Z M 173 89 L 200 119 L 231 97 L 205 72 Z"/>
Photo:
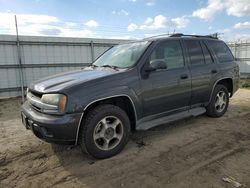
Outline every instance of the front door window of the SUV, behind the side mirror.
<path fill-rule="evenodd" d="M 166 41 L 158 44 L 150 56 L 150 61 L 161 59 L 167 69 L 184 67 L 182 48 L 179 41 Z"/>

